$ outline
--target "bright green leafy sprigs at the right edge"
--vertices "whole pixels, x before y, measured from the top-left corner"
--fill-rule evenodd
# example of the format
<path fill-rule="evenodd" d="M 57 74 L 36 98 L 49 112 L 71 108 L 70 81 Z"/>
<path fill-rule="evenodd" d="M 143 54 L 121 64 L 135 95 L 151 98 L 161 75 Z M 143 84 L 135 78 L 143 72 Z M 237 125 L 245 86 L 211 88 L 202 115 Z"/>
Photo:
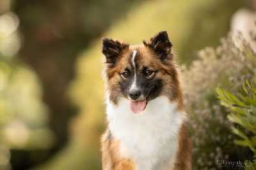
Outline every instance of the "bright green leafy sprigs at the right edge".
<path fill-rule="evenodd" d="M 254 63 L 256 63 L 254 61 Z M 256 84 L 256 77 L 253 79 Z M 230 92 L 223 89 L 216 88 L 218 98 L 221 100 L 221 105 L 224 105 L 230 111 L 227 118 L 232 123 L 239 125 L 238 127 L 231 127 L 234 134 L 238 135 L 242 139 L 236 140 L 235 143 L 241 146 L 248 146 L 254 153 L 253 164 L 252 162 L 245 162 L 246 169 L 254 169 L 256 167 L 256 88 L 253 82 L 246 80 L 246 85 L 243 83 L 243 90 L 246 96 L 239 94 L 239 98 Z M 252 132 L 253 135 L 246 135 L 241 128 Z"/>

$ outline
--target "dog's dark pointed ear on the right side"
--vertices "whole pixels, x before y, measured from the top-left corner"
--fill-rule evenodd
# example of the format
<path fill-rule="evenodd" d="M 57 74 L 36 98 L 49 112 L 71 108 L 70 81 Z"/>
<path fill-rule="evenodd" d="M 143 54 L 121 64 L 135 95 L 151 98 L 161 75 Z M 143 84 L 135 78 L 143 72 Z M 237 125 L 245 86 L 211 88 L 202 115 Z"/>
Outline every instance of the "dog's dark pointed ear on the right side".
<path fill-rule="evenodd" d="M 157 35 L 152 36 L 148 42 L 143 41 L 143 43 L 146 47 L 154 50 L 156 54 L 159 54 L 161 59 L 168 56 L 172 57 L 173 44 L 170 42 L 166 31 L 160 31 Z"/>

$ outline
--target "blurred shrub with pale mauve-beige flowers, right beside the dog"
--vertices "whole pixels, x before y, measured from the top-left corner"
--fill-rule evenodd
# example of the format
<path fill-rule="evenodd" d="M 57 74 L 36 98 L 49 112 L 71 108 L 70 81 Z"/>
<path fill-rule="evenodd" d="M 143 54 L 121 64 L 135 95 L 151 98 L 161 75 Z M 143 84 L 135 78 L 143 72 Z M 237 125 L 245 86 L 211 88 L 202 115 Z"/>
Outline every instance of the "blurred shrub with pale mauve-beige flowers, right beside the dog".
<path fill-rule="evenodd" d="M 189 114 L 189 132 L 193 141 L 193 169 L 218 167 L 218 160 L 237 161 L 250 157 L 250 150 L 233 143 L 232 122 L 228 111 L 218 104 L 214 89 L 221 87 L 232 93 L 252 80 L 255 66 L 232 38 L 221 39 L 216 50 L 200 50 L 199 58 L 189 68 L 182 66 L 184 92 Z M 221 168 L 221 167 L 220 167 Z"/>

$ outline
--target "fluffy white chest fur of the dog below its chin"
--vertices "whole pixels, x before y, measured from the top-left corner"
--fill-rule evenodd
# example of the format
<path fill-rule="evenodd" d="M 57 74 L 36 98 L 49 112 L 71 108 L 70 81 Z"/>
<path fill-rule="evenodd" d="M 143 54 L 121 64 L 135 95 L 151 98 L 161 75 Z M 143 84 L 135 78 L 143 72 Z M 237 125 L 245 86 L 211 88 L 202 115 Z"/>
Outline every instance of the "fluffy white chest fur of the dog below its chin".
<path fill-rule="evenodd" d="M 109 129 L 120 141 L 122 157 L 131 158 L 138 170 L 172 166 L 184 113 L 166 97 L 151 100 L 139 114 L 132 113 L 129 104 L 124 98 L 116 107 L 107 100 Z"/>

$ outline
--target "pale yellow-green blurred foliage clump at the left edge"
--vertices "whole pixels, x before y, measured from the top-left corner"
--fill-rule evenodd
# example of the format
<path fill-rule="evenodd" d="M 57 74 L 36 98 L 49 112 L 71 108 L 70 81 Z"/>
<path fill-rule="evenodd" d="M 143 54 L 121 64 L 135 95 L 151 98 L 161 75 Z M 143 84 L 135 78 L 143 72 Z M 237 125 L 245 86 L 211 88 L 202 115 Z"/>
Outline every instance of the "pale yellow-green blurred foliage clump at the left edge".
<path fill-rule="evenodd" d="M 20 62 L 0 61 L 0 77 L 0 143 L 12 149 L 50 148 L 49 110 L 35 72 Z M 38 143 L 42 139 L 44 143 Z"/>

